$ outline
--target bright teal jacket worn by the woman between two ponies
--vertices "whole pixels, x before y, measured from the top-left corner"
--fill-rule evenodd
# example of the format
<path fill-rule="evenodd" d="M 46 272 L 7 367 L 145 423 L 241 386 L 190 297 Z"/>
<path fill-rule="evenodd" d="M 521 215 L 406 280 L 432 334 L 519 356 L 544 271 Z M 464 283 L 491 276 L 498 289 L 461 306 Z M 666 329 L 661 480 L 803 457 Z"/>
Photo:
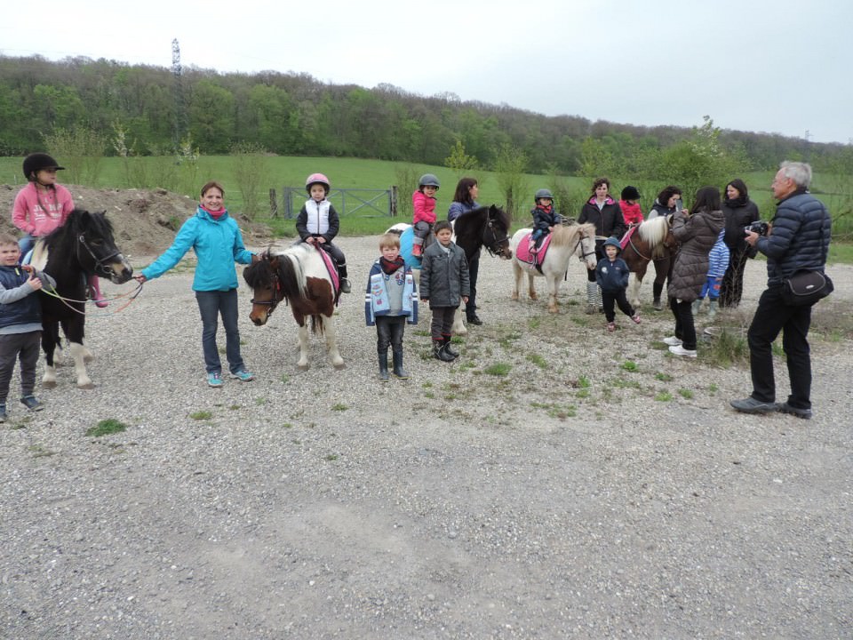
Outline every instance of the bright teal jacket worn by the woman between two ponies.
<path fill-rule="evenodd" d="M 178 264 L 190 249 L 195 251 L 198 265 L 193 278 L 194 291 L 230 291 L 237 288 L 235 261 L 250 264 L 252 253 L 243 246 L 240 228 L 228 212 L 219 220 L 201 207 L 184 222 L 171 247 L 157 260 L 142 269 L 147 280 L 163 276 Z"/>

